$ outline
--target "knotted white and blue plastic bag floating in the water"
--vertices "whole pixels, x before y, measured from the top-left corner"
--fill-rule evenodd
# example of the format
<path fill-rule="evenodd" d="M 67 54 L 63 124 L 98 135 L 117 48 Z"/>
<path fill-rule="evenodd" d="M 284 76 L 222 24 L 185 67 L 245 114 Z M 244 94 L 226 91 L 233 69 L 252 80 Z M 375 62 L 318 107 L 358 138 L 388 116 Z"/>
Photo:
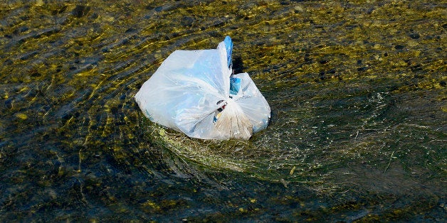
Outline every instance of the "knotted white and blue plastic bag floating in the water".
<path fill-rule="evenodd" d="M 176 50 L 135 95 L 151 121 L 191 138 L 248 139 L 270 107 L 247 73 L 232 75 L 228 36 L 215 50 Z"/>

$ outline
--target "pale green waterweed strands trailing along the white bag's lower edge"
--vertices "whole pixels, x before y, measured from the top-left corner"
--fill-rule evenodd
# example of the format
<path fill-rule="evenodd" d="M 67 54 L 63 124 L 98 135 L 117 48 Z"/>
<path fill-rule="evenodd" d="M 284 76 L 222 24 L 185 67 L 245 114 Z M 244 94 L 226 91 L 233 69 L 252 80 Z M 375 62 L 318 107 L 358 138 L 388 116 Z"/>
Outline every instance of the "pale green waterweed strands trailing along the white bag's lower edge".
<path fill-rule="evenodd" d="M 235 171 L 249 178 L 279 183 L 284 187 L 300 185 L 318 194 L 330 194 L 340 185 L 330 183 L 331 173 L 321 173 L 321 165 L 301 163 L 291 157 L 275 154 L 270 148 L 250 141 L 200 140 L 166 129 L 144 119 L 149 140 L 165 148 L 184 163 L 196 163 L 212 171 Z M 256 145 L 255 145 L 256 144 Z M 303 165 L 303 166 L 301 166 Z"/>

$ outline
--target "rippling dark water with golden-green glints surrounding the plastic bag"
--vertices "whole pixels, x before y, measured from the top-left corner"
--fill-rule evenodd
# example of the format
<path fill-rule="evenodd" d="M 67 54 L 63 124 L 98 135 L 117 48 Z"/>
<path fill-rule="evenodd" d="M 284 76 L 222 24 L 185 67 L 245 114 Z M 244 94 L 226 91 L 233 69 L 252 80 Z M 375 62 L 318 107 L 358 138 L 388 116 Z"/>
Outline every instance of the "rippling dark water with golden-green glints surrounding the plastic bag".
<path fill-rule="evenodd" d="M 443 222 L 446 1 L 1 1 L 0 221 Z M 234 41 L 249 141 L 151 124 L 169 53 Z"/>

